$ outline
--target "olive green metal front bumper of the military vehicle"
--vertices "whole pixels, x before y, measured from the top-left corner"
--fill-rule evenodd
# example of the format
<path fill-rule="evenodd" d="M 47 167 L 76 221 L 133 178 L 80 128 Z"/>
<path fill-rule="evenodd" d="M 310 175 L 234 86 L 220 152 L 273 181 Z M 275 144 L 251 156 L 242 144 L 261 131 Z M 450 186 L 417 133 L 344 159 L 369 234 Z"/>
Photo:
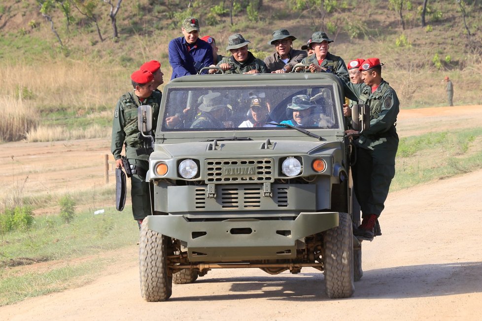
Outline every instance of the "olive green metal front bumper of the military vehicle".
<path fill-rule="evenodd" d="M 295 258 L 298 240 L 339 224 L 338 212 L 301 212 L 294 220 L 192 222 L 184 215 L 146 219 L 149 229 L 185 242 L 192 262 Z"/>

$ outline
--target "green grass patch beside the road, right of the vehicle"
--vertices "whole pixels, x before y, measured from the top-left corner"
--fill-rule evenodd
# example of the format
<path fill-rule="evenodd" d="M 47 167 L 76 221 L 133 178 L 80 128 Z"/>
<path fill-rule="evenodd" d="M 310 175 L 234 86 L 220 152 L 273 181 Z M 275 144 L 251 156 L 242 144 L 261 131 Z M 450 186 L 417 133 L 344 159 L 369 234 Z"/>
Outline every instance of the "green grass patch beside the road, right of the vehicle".
<path fill-rule="evenodd" d="M 482 128 L 427 133 L 400 140 L 391 190 L 482 168 Z"/>

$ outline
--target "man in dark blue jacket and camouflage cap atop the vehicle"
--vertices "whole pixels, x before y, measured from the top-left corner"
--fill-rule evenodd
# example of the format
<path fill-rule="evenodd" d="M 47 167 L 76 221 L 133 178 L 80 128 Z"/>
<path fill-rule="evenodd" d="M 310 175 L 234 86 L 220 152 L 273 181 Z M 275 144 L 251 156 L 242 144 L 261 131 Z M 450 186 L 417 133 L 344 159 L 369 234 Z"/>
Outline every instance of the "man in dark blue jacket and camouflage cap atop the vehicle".
<path fill-rule="evenodd" d="M 169 42 L 169 63 L 174 78 L 195 75 L 198 71 L 213 64 L 212 48 L 199 39 L 199 21 L 189 17 L 182 22 L 182 37 Z"/>

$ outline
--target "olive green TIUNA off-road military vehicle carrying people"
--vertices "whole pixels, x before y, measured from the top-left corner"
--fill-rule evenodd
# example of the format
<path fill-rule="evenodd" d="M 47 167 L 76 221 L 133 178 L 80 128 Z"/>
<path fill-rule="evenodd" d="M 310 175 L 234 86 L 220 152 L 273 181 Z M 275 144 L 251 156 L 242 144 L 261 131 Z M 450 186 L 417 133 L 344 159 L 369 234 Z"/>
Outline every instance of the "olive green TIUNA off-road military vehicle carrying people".
<path fill-rule="evenodd" d="M 299 110 L 287 107 L 300 95 L 309 112 L 292 126 Z M 152 215 L 139 241 L 144 299 L 165 301 L 173 282 L 194 282 L 214 268 L 253 267 L 269 274 L 312 267 L 324 272 L 328 297 L 350 297 L 362 269 L 343 103 L 342 83 L 328 73 L 172 80 L 155 137 L 146 136 L 153 152 Z M 253 110 L 263 123 L 248 121 Z M 360 110 L 359 130 L 366 126 Z M 150 113 L 139 107 L 143 134 Z"/>

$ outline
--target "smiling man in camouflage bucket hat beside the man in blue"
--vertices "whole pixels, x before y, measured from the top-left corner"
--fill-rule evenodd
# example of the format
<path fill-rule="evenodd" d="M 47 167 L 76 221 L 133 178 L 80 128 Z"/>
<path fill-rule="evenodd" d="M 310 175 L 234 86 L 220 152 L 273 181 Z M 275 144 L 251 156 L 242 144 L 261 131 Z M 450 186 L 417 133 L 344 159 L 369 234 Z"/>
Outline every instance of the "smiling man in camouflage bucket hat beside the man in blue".
<path fill-rule="evenodd" d="M 226 50 L 233 55 L 224 57 L 217 66 L 225 73 L 268 73 L 266 64 L 248 51 L 248 43 L 239 33 L 230 35 Z M 215 69 L 209 70 L 209 73 L 214 72 Z"/>

